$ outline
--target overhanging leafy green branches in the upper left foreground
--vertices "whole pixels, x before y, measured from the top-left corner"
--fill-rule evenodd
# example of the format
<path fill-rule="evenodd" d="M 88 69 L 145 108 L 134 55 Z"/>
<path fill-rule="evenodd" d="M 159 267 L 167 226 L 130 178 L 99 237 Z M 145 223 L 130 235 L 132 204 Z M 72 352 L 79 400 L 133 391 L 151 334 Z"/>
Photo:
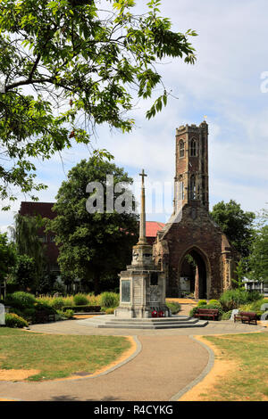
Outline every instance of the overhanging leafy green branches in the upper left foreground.
<path fill-rule="evenodd" d="M 138 98 L 169 92 L 155 64 L 165 57 L 194 63 L 188 38 L 160 16 L 159 0 L 135 14 L 134 0 L 0 0 L 0 196 L 40 190 L 34 158 L 49 159 L 88 144 L 96 124 L 130 131 Z M 143 4 L 145 6 L 145 4 Z M 6 206 L 6 209 L 9 206 Z"/>

